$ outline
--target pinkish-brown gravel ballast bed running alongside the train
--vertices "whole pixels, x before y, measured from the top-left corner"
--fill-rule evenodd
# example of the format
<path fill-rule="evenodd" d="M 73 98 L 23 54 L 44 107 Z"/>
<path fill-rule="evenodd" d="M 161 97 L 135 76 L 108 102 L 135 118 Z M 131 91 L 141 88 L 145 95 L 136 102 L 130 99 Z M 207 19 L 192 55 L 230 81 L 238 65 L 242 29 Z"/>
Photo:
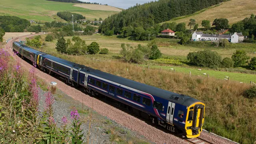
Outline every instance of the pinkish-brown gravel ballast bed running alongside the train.
<path fill-rule="evenodd" d="M 27 37 L 34 36 L 29 35 Z M 10 42 L 6 45 L 7 47 L 10 46 Z M 8 51 L 11 56 L 13 56 L 13 52 L 11 50 Z M 21 60 L 21 58 L 13 56 L 14 59 L 18 58 L 20 60 L 21 65 L 24 69 L 29 70 L 32 65 L 28 64 L 24 60 Z M 182 140 L 181 138 L 178 138 L 172 134 L 163 132 L 162 130 L 159 130 L 158 128 L 155 128 L 146 122 L 131 116 L 130 114 L 127 114 L 126 112 L 123 112 L 122 110 L 119 110 L 113 106 L 110 106 L 100 100 L 97 100 L 96 98 L 90 97 L 87 94 L 84 94 L 83 92 L 72 88 L 71 86 L 66 85 L 64 82 L 49 76 L 48 74 L 36 69 L 36 72 L 38 76 L 42 79 L 46 80 L 46 83 L 50 84 L 50 82 L 54 81 L 57 82 L 57 88 L 62 90 L 64 93 L 66 93 L 68 96 L 72 97 L 74 100 L 78 100 L 80 102 L 83 102 L 84 105 L 92 108 L 99 114 L 106 116 L 110 118 L 111 120 L 114 120 L 118 124 L 136 132 L 136 134 L 144 136 L 146 139 L 150 140 L 151 142 L 155 142 L 157 144 L 184 144 L 188 143 L 185 140 Z M 61 105 L 61 104 L 60 104 Z M 56 107 L 56 109 L 61 109 L 63 112 L 57 113 L 57 116 L 62 116 L 66 114 L 66 111 L 61 106 Z M 210 142 L 213 142 L 214 144 L 226 144 L 227 141 L 218 138 L 213 135 L 209 135 L 206 132 L 202 132 L 201 138 L 204 138 L 205 140 L 208 140 Z"/>

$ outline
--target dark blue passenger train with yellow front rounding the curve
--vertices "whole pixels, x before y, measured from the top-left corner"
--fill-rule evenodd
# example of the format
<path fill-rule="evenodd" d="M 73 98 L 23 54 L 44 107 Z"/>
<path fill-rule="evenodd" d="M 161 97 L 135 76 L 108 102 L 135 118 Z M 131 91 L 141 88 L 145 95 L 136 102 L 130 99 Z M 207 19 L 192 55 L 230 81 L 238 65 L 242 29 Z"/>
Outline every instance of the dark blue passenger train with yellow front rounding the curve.
<path fill-rule="evenodd" d="M 205 104 L 184 94 L 177 94 L 133 80 L 115 76 L 88 66 L 34 50 L 20 42 L 13 42 L 13 51 L 22 58 L 35 62 L 44 72 L 53 72 L 72 86 L 104 95 L 146 114 L 152 123 L 187 138 L 202 132 Z"/>

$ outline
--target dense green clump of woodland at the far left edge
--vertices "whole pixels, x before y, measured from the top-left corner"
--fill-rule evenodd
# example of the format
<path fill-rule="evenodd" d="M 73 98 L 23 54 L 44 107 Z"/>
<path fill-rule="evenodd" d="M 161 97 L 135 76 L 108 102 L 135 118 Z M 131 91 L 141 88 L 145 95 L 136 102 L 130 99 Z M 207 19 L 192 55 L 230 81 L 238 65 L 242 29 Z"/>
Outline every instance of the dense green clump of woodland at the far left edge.
<path fill-rule="evenodd" d="M 30 22 L 16 16 L 0 16 L 0 27 L 5 32 L 24 32 L 24 29 L 30 26 Z"/>

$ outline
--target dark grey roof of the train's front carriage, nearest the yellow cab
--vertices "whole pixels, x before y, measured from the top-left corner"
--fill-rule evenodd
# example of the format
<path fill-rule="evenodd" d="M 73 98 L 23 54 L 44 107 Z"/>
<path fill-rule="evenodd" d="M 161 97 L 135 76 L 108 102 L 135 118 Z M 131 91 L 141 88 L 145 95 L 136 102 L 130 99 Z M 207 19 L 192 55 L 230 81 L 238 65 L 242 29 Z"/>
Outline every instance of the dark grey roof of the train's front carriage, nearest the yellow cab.
<path fill-rule="evenodd" d="M 128 86 L 130 88 L 134 88 L 136 90 L 140 90 L 142 92 L 146 92 L 148 94 L 152 94 L 154 96 L 158 96 L 170 102 L 182 104 L 184 106 L 191 106 L 195 102 L 200 102 L 199 100 L 191 98 L 190 96 L 186 96 L 183 94 L 176 94 L 174 92 L 156 88 L 154 86 L 149 86 L 146 84 L 142 84 L 140 82 L 135 82 L 133 80 L 122 78 L 120 76 L 115 76 L 113 74 L 108 74 L 100 70 L 95 70 L 93 68 L 86 67 L 86 68 L 82 68 L 80 71 L 92 74 L 94 76 L 98 76 L 100 78 L 104 78 L 106 80 L 110 80 L 112 82 L 116 82 L 124 86 Z"/>

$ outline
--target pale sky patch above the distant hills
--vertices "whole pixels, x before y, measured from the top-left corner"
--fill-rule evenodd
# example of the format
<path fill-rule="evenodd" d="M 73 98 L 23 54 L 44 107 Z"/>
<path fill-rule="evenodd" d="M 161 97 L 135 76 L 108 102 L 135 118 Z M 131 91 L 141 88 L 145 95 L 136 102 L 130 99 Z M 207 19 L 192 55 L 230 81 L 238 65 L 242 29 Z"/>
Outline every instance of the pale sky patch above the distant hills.
<path fill-rule="evenodd" d="M 151 0 L 80 0 L 82 2 L 97 2 L 99 4 L 108 4 L 110 6 L 115 6 L 118 8 L 129 8 L 131 6 L 138 4 L 144 4 L 150 2 Z"/>

